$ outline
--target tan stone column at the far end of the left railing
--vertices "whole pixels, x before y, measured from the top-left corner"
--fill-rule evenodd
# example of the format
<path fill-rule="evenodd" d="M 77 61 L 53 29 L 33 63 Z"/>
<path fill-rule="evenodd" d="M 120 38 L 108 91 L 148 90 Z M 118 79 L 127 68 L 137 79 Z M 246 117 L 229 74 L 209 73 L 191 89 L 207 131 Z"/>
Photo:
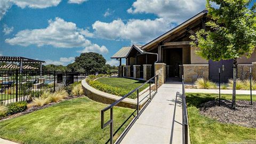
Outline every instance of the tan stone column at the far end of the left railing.
<path fill-rule="evenodd" d="M 165 83 L 165 63 L 155 63 L 155 74 L 158 75 L 158 84 Z"/>

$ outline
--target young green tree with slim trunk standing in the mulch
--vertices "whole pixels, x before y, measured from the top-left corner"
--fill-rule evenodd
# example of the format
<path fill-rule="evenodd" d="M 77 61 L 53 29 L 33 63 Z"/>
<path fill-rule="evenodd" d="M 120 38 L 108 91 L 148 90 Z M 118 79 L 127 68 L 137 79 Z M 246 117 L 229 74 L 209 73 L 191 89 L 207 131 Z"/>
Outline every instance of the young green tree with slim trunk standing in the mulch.
<path fill-rule="evenodd" d="M 191 46 L 197 47 L 196 54 L 207 60 L 234 59 L 232 107 L 236 100 L 237 58 L 249 58 L 256 45 L 256 4 L 249 8 L 252 0 L 206 0 L 208 15 L 206 22 L 210 30 L 201 29 L 190 36 Z M 215 3 L 219 7 L 214 8 Z"/>

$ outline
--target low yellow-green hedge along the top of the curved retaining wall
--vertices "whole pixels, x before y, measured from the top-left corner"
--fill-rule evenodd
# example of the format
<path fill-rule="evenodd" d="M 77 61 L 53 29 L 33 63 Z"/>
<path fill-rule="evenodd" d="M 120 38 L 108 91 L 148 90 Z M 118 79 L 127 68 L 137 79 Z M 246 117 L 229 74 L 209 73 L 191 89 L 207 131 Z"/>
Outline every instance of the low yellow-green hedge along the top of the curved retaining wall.
<path fill-rule="evenodd" d="M 107 84 L 102 84 L 99 81 L 89 81 L 88 82 L 90 86 L 94 87 L 97 90 L 100 90 L 102 92 L 114 94 L 120 97 L 123 97 L 125 94 L 129 93 L 130 91 L 122 89 L 120 87 L 114 87 Z M 135 99 L 137 98 L 137 94 L 134 92 L 131 95 L 129 95 L 129 98 Z"/>

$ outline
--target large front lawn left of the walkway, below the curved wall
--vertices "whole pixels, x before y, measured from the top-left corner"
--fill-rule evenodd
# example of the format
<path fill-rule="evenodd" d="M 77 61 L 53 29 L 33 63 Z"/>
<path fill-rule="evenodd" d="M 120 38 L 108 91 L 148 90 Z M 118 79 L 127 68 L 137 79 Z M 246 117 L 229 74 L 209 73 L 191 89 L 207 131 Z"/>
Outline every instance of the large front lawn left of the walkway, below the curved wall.
<path fill-rule="evenodd" d="M 100 110 L 106 106 L 87 97 L 63 101 L 0 122 L 0 137 L 20 143 L 105 143 L 109 139 L 109 126 L 103 130 L 100 128 Z M 133 111 L 114 108 L 115 131 Z M 119 137 L 132 118 L 121 127 L 114 139 Z M 109 119 L 109 111 L 105 113 L 105 119 Z"/>

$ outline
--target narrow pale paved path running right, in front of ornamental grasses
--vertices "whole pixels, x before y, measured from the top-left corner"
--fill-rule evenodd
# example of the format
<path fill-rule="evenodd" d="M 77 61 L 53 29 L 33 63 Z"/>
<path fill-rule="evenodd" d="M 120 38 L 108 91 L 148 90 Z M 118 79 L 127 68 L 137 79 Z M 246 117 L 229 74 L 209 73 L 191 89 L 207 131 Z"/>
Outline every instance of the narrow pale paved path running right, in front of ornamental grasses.
<path fill-rule="evenodd" d="M 207 89 L 186 89 L 185 92 L 189 93 L 219 93 L 219 90 L 207 90 Z M 232 94 L 232 90 L 220 90 L 222 94 Z M 236 90 L 236 94 L 250 94 L 248 90 Z M 252 94 L 256 94 L 256 91 L 252 91 Z"/>

